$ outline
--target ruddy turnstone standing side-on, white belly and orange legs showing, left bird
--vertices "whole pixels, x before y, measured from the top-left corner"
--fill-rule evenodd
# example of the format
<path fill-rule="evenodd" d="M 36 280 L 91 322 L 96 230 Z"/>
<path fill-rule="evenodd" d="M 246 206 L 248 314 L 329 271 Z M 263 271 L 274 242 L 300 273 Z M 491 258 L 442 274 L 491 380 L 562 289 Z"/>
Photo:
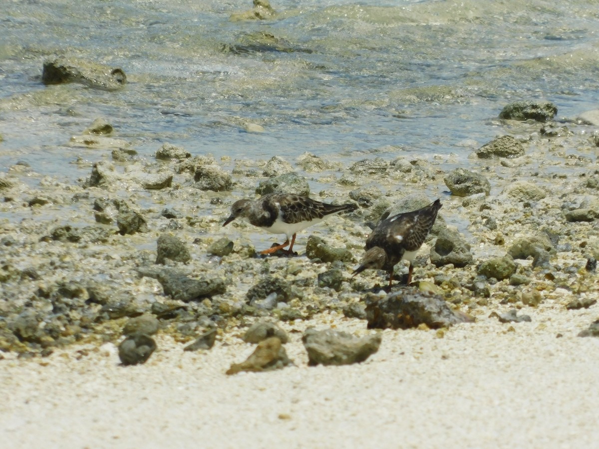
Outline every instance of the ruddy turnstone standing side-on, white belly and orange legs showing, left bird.
<path fill-rule="evenodd" d="M 226 219 L 223 226 L 235 219 L 242 219 L 273 234 L 285 234 L 287 236 L 285 243 L 261 251 L 260 254 L 271 254 L 285 248 L 289 245 L 290 237 L 291 245 L 287 253 L 293 254 L 297 232 L 322 222 L 326 216 L 343 211 L 350 212 L 357 208 L 356 204 L 326 204 L 307 196 L 268 193 L 255 200 L 235 201 L 231 206 L 231 216 Z"/>

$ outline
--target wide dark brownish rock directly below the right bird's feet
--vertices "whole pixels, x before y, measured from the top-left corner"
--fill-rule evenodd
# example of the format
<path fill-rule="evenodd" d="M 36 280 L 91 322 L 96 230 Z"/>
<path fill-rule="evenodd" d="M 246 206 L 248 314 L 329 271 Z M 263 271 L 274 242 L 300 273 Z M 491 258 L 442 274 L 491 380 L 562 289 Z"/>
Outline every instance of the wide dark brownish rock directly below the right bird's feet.
<path fill-rule="evenodd" d="M 450 327 L 473 321 L 468 315 L 454 312 L 441 296 L 407 287 L 380 299 L 365 298 L 368 329 L 409 329 L 426 324 L 431 329 Z"/>

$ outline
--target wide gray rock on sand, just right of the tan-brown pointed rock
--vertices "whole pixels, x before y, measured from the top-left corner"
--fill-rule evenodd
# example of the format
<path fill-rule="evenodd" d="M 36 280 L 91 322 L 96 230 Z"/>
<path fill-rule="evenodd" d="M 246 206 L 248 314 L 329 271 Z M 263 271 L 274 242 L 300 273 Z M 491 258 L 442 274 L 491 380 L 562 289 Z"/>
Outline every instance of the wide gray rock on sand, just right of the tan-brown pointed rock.
<path fill-rule="evenodd" d="M 379 350 L 382 335 L 356 337 L 340 330 L 308 328 L 302 342 L 308 352 L 308 366 L 351 365 L 364 362 Z"/>

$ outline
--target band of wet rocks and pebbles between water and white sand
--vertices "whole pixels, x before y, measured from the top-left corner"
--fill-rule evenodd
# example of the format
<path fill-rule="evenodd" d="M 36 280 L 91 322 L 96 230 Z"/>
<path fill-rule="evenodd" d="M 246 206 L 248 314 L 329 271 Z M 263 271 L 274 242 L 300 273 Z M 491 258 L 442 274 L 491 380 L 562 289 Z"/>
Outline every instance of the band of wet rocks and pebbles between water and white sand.
<path fill-rule="evenodd" d="M 391 160 L 349 166 L 310 153 L 294 161 L 216 160 L 164 144 L 153 155 L 111 150 L 75 184 L 16 163 L 0 177 L 0 359 L 47 356 L 75 343 L 118 345 L 123 335 L 145 357 L 152 344 L 135 336 L 157 332 L 181 348 L 207 340 L 198 347 L 209 350 L 264 320 L 309 325 L 329 313 L 363 320 L 364 328 L 403 328 L 406 320 L 371 326 L 367 304 L 385 298 L 385 274 L 350 274 L 381 217 L 435 198 L 443 208 L 415 260 L 419 287 L 394 286 L 390 297 L 436 298 L 468 320 L 495 314 L 506 323 L 540 305 L 554 314 L 596 308 L 594 116 L 552 122 L 549 108 L 541 123 L 542 106 L 530 117 L 502 113 L 493 123 L 497 139 L 465 142 L 474 150 L 467 162 L 403 148 Z M 77 141 L 98 147 L 111 134 L 96 120 Z M 39 187 L 28 187 L 32 178 Z M 280 237 L 222 223 L 237 199 L 275 191 L 359 208 L 300 233 L 298 256 L 262 257 L 257 251 Z M 406 267 L 396 270 L 401 277 Z M 452 325 L 411 322 L 423 330 Z M 596 327 L 579 331 L 597 335 Z M 265 338 L 279 341 L 265 344 L 279 354 L 281 340 Z"/>

